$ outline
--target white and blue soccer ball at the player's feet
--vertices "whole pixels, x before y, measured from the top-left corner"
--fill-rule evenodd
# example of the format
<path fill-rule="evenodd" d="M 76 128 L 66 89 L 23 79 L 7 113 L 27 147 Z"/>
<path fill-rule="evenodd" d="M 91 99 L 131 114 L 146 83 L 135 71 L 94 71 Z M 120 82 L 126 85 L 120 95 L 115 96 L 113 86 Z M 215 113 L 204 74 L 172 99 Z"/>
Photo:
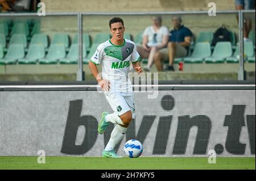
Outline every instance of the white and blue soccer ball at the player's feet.
<path fill-rule="evenodd" d="M 142 144 L 138 140 L 129 140 L 123 146 L 125 154 L 130 158 L 138 158 L 142 154 Z"/>

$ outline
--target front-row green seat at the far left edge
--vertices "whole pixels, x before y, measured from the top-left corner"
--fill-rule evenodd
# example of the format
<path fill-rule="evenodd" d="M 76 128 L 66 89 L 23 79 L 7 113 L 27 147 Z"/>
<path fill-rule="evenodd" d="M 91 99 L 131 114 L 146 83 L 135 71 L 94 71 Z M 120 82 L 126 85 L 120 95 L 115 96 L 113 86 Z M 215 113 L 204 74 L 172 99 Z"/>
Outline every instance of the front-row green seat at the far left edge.
<path fill-rule="evenodd" d="M 5 58 L 0 59 L 0 64 L 16 64 L 19 58 L 25 55 L 24 47 L 21 44 L 10 45 Z"/>

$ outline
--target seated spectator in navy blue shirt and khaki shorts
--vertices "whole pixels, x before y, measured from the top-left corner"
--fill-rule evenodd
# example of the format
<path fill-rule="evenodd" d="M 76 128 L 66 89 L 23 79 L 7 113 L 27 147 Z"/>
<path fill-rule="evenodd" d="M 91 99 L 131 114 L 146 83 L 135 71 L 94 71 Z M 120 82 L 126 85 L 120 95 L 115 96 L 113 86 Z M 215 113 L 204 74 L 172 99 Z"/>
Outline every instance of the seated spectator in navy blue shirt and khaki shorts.
<path fill-rule="evenodd" d="M 168 47 L 161 52 L 156 52 L 154 62 L 158 71 L 163 70 L 162 61 L 169 60 L 169 64 L 164 70 L 174 71 L 174 58 L 185 57 L 188 55 L 188 49 L 191 45 L 192 32 L 181 24 L 181 17 L 172 18 L 173 30 L 170 31 Z"/>

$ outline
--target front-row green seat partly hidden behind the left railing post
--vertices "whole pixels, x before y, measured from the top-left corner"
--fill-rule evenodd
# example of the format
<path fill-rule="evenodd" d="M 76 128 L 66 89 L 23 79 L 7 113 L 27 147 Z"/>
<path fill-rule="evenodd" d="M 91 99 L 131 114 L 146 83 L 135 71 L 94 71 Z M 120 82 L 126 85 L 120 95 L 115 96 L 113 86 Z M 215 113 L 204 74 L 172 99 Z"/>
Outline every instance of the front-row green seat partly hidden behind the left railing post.
<path fill-rule="evenodd" d="M 86 57 L 86 48 L 82 46 L 82 58 Z M 79 45 L 72 44 L 66 58 L 60 58 L 60 64 L 77 64 L 79 59 Z"/>

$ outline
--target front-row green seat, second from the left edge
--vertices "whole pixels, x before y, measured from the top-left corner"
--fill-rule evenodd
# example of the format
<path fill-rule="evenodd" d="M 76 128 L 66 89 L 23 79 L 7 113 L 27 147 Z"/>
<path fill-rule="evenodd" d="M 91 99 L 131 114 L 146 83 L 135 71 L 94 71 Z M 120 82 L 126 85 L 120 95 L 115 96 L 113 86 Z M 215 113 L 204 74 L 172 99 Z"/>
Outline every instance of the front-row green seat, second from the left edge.
<path fill-rule="evenodd" d="M 27 55 L 25 58 L 20 58 L 18 60 L 19 64 L 36 64 L 36 61 L 39 58 L 45 56 L 44 46 L 42 44 L 32 44 L 28 49 Z"/>

